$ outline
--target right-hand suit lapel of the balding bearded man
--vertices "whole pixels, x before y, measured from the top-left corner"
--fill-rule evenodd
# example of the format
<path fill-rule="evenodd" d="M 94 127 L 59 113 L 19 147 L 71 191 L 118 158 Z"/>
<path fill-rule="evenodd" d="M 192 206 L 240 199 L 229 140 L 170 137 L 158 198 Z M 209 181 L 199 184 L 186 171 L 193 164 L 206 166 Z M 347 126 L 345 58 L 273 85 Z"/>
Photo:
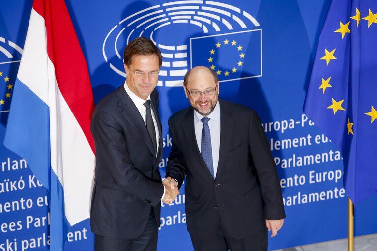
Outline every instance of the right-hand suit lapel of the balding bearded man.
<path fill-rule="evenodd" d="M 227 158 L 229 145 L 231 143 L 234 123 L 231 117 L 231 111 L 225 102 L 219 99 L 220 103 L 220 152 L 219 164 L 217 166 L 216 177 L 219 176 L 221 170 L 224 168 L 225 160 Z"/>

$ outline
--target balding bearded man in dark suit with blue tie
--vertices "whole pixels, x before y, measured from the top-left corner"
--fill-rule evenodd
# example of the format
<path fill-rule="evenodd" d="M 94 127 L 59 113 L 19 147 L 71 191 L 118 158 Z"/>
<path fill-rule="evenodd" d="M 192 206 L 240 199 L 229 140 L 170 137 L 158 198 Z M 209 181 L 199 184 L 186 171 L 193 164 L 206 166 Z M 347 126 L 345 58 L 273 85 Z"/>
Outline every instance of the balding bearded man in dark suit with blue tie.
<path fill-rule="evenodd" d="M 218 99 L 209 68 L 187 72 L 191 107 L 169 119 L 172 150 L 166 179 L 180 187 L 186 176 L 187 229 L 196 251 L 265 251 L 267 228 L 283 225 L 276 165 L 257 112 Z"/>

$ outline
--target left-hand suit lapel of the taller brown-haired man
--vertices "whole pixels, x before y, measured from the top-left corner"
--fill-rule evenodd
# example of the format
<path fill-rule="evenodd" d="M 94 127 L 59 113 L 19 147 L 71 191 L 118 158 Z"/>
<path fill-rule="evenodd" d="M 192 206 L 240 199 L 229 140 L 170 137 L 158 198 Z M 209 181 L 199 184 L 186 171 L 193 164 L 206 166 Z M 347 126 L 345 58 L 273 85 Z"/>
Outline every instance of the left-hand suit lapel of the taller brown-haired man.
<path fill-rule="evenodd" d="M 124 108 L 122 115 L 140 135 L 140 137 L 143 139 L 142 141 L 146 144 L 153 156 L 155 156 L 152 139 L 150 138 L 148 129 L 145 126 L 145 122 L 134 102 L 132 102 L 131 98 L 128 96 L 123 85 L 118 88 L 117 95 L 119 106 Z"/>

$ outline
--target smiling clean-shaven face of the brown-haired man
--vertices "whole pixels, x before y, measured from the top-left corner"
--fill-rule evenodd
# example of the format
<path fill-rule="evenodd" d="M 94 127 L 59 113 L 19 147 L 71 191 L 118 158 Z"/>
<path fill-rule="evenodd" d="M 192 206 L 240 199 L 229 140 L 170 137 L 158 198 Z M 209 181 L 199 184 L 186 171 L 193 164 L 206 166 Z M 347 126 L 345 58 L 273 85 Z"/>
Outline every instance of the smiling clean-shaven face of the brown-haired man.
<path fill-rule="evenodd" d="M 130 65 L 124 65 L 124 69 L 127 74 L 126 84 L 130 90 L 136 96 L 146 100 L 158 82 L 158 75 L 150 74 L 158 72 L 160 69 L 158 56 L 155 54 L 136 54 L 132 56 Z M 141 76 L 135 74 L 136 72 L 142 73 Z"/>

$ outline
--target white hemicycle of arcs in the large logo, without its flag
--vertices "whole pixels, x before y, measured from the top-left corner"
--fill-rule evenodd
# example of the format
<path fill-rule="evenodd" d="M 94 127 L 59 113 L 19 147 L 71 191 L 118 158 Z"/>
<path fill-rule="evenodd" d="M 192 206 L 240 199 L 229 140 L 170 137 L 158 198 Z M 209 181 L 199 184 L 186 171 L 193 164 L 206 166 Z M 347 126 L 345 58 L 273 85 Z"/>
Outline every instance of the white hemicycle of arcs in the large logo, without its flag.
<path fill-rule="evenodd" d="M 201 0 L 167 2 L 121 20 L 107 34 L 102 53 L 110 68 L 126 77 L 124 47 L 132 39 L 145 36 L 163 56 L 158 86 L 182 86 L 190 68 L 190 38 L 244 32 L 259 26 L 249 13 L 229 4 Z"/>

